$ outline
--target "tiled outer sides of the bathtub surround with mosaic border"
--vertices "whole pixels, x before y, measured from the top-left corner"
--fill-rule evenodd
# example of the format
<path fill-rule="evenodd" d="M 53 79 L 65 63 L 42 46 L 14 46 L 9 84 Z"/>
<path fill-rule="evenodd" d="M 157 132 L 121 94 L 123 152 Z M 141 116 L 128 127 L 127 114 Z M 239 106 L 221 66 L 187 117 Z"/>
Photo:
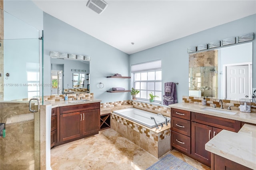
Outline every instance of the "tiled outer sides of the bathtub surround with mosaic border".
<path fill-rule="evenodd" d="M 170 151 L 170 123 L 168 126 L 148 128 L 111 113 L 111 128 L 134 142 L 156 158 Z"/>

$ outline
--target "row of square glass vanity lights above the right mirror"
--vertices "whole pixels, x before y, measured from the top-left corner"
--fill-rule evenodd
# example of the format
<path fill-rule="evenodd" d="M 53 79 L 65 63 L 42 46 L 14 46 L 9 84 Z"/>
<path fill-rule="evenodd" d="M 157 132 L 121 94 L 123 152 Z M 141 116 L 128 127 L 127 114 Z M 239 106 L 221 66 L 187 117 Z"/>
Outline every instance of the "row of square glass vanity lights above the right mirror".
<path fill-rule="evenodd" d="M 254 33 L 251 32 L 248 34 L 240 35 L 238 37 L 230 37 L 230 38 L 225 38 L 221 41 L 215 41 L 215 42 L 210 42 L 208 44 L 198 45 L 196 47 L 188 47 L 188 53 L 203 51 L 206 49 L 212 49 L 212 48 L 226 46 L 226 45 L 232 45 L 235 43 L 248 42 L 248 41 L 252 41 L 253 39 L 254 39 Z"/>

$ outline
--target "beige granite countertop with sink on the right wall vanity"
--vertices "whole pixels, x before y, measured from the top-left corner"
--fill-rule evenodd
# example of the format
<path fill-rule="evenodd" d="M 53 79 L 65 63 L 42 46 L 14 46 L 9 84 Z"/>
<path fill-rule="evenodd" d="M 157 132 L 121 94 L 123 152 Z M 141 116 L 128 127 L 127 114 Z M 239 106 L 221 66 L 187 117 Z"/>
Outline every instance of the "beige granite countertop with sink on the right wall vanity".
<path fill-rule="evenodd" d="M 210 112 L 210 111 L 204 111 L 202 108 L 208 107 L 212 108 L 209 106 L 202 106 L 198 104 L 193 104 L 193 103 L 176 103 L 173 105 L 169 105 L 169 107 L 174 108 L 174 109 L 183 109 L 186 111 L 192 111 L 192 112 L 197 112 L 197 113 L 202 113 L 206 115 L 212 115 L 216 117 L 222 117 L 222 118 L 227 118 L 227 119 L 232 119 L 236 121 L 242 121 L 246 123 L 252 123 L 256 124 L 256 113 L 251 112 L 251 113 L 245 113 L 245 112 L 240 112 L 239 110 L 231 110 L 231 112 L 236 112 L 235 115 L 228 115 L 224 113 L 216 113 L 216 112 Z M 220 108 L 212 108 L 216 110 L 223 110 L 223 111 L 228 111 L 227 109 L 220 109 Z"/>

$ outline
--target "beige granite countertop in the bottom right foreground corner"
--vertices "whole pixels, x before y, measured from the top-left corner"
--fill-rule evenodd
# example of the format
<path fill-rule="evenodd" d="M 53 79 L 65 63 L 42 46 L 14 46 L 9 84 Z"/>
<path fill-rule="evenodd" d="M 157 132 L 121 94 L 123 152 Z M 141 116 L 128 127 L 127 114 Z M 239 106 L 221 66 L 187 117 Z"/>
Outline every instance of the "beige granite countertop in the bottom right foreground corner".
<path fill-rule="evenodd" d="M 244 124 L 236 133 L 222 130 L 205 144 L 209 152 L 256 169 L 256 126 Z"/>

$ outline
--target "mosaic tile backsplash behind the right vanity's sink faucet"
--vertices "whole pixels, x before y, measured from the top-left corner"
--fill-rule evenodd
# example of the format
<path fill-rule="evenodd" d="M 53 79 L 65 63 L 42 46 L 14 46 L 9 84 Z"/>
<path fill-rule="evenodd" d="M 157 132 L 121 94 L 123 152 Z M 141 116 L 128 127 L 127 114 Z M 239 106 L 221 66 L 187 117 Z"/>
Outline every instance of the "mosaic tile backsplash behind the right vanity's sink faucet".
<path fill-rule="evenodd" d="M 191 97 L 191 96 L 182 96 L 182 102 L 183 103 L 194 103 L 198 105 L 202 105 L 202 99 L 203 97 Z M 213 104 L 216 105 L 216 107 L 220 108 L 220 102 L 219 99 L 211 99 L 211 98 L 205 98 L 206 99 L 206 106 L 213 106 Z M 251 102 L 251 105 L 254 105 L 256 107 L 256 104 L 254 102 Z M 240 106 L 240 101 L 233 101 L 233 100 L 223 100 L 223 107 L 224 109 L 227 109 L 229 106 L 233 106 L 232 110 L 238 110 L 238 107 Z M 251 108 L 252 112 L 256 112 L 256 108 Z"/>

